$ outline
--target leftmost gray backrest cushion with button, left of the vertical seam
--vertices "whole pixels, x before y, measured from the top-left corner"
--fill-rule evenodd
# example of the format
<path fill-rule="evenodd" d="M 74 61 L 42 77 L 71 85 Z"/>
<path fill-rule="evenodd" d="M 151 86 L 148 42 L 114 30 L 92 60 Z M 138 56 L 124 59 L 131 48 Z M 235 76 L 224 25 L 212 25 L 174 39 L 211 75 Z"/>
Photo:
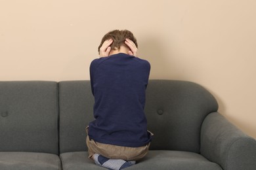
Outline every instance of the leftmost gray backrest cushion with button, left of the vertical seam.
<path fill-rule="evenodd" d="M 58 154 L 56 82 L 0 82 L 0 152 Z"/>

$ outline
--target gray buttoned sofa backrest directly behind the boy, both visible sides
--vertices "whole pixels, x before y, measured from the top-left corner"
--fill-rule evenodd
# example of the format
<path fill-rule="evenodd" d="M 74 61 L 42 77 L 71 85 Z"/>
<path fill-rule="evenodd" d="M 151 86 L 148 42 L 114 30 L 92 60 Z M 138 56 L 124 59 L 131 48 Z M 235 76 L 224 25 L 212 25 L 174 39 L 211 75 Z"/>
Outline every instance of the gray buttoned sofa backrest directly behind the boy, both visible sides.
<path fill-rule="evenodd" d="M 85 127 L 93 118 L 89 80 L 59 82 L 60 153 L 87 150 Z M 150 80 L 145 114 L 154 133 L 151 150 L 200 152 L 200 129 L 217 101 L 202 86 L 177 80 Z"/>

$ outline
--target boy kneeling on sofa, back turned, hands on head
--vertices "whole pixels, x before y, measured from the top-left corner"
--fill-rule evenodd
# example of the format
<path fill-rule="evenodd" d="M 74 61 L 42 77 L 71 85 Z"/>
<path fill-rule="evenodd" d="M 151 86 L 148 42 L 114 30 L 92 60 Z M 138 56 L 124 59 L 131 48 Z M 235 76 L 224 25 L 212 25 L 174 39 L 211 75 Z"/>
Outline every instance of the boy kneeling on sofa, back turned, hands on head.
<path fill-rule="evenodd" d="M 152 139 L 144 114 L 150 63 L 136 57 L 137 47 L 131 31 L 110 31 L 90 66 L 95 120 L 87 127 L 89 158 L 108 169 L 134 165 Z"/>

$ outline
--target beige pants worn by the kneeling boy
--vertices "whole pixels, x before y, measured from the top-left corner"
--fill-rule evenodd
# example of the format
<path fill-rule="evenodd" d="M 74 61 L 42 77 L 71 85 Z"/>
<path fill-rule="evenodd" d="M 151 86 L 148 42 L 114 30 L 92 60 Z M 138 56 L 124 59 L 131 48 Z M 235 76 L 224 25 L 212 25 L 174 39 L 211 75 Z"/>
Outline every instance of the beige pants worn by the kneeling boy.
<path fill-rule="evenodd" d="M 86 127 L 88 134 L 88 127 Z M 152 134 L 153 135 L 153 134 Z M 88 147 L 89 158 L 92 159 L 93 154 L 100 154 L 110 159 L 121 159 L 126 161 L 137 161 L 143 158 L 148 153 L 150 143 L 146 146 L 127 147 L 117 146 L 113 144 L 98 143 L 93 139 L 89 139 L 87 135 L 86 144 Z"/>

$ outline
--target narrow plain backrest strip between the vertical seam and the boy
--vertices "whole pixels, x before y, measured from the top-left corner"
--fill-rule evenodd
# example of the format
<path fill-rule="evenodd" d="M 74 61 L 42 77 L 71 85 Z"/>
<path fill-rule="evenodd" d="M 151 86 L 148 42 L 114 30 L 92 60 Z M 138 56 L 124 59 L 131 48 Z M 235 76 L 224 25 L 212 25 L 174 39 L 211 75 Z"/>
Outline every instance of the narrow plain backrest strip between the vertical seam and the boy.
<path fill-rule="evenodd" d="M 90 81 L 59 82 L 60 153 L 87 150 L 85 127 L 93 118 Z"/>

